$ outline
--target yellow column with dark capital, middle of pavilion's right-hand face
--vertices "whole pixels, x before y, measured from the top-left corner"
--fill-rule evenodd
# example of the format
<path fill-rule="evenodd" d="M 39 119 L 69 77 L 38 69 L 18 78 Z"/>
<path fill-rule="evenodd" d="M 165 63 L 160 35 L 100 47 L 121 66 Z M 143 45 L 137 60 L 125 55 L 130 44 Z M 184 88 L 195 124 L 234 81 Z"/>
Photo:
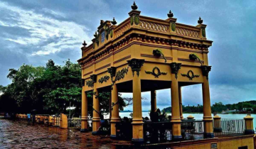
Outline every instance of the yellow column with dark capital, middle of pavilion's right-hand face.
<path fill-rule="evenodd" d="M 179 109 L 178 98 L 178 70 L 181 69 L 181 63 L 171 63 L 171 122 L 172 124 L 172 139 L 181 140 L 181 115 Z"/>

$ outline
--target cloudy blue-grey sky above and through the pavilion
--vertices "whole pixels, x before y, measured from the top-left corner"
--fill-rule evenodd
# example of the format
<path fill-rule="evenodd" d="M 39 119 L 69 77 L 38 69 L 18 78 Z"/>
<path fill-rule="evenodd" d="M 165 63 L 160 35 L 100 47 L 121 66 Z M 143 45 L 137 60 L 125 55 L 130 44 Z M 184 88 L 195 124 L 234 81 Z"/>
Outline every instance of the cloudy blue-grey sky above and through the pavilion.
<path fill-rule="evenodd" d="M 143 16 L 166 19 L 171 11 L 178 23 L 196 26 L 198 17 L 207 24 L 210 47 L 211 103 L 256 100 L 256 1 L 236 0 L 147 0 L 136 1 Z M 133 1 L 128 0 L 1 0 L 0 85 L 11 83 L 9 68 L 23 63 L 45 65 L 49 59 L 62 65 L 80 58 L 83 40 L 90 43 L 100 20 L 117 23 L 128 17 Z M 123 94 L 132 96 L 132 94 Z M 143 110 L 150 107 L 149 93 Z M 201 85 L 183 87 L 183 104 L 202 104 Z M 171 91 L 157 92 L 157 106 L 171 105 Z M 132 109 L 132 106 L 127 107 Z"/>

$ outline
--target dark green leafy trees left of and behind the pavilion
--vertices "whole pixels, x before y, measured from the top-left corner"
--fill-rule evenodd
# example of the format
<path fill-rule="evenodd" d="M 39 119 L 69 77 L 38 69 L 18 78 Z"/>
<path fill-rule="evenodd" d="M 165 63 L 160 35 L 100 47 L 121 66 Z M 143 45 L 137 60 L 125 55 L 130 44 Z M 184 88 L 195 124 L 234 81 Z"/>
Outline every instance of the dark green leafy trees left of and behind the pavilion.
<path fill-rule="evenodd" d="M 11 84 L 0 86 L 0 111 L 28 113 L 36 109 L 38 114 L 68 113 L 67 107 L 75 106 L 73 114 L 81 113 L 82 79 L 80 65 L 67 60 L 55 65 L 48 60 L 45 67 L 22 65 L 10 69 L 7 77 Z M 92 113 L 92 92 L 88 95 L 88 111 Z M 100 109 L 110 112 L 110 92 L 99 94 Z M 119 109 L 127 106 L 119 94 Z"/>

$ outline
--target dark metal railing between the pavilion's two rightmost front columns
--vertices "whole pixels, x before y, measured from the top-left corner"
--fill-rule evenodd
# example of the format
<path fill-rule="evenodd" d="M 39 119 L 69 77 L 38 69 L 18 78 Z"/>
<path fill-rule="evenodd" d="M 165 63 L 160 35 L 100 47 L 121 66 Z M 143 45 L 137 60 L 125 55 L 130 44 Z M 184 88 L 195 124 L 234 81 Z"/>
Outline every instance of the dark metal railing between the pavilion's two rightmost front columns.
<path fill-rule="evenodd" d="M 203 121 L 181 121 L 181 136 L 183 140 L 203 139 Z"/>

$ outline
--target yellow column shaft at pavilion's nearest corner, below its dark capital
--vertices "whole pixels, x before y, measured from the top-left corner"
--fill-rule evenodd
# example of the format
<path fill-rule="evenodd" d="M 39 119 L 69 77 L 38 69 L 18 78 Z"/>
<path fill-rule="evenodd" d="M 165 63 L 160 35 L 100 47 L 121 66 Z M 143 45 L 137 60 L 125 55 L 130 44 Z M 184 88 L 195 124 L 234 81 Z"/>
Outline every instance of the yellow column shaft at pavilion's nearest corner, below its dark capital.
<path fill-rule="evenodd" d="M 144 141 L 143 138 L 143 121 L 142 121 L 142 93 L 141 79 L 139 75 L 134 74 L 132 79 L 133 93 L 133 118 L 132 118 L 132 141 Z"/>

